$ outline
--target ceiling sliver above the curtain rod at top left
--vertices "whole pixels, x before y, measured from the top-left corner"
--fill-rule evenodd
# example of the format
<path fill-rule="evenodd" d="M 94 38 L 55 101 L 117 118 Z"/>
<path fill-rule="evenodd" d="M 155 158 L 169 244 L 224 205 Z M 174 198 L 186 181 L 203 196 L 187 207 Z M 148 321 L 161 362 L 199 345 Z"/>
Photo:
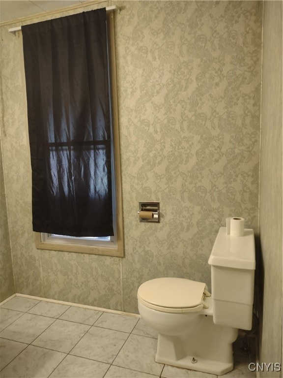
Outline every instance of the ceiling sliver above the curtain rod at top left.
<path fill-rule="evenodd" d="M 89 0 L 0 0 L 0 22 L 51 12 Z"/>

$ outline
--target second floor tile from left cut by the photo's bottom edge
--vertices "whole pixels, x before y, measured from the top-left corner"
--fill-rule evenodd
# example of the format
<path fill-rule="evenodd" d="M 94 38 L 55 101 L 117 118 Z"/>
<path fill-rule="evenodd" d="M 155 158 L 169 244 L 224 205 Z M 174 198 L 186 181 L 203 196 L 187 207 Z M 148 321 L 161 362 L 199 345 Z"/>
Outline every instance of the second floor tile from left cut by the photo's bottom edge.
<path fill-rule="evenodd" d="M 104 362 L 97 362 L 68 354 L 54 370 L 50 378 L 102 378 L 109 366 L 109 364 L 105 364 Z"/>

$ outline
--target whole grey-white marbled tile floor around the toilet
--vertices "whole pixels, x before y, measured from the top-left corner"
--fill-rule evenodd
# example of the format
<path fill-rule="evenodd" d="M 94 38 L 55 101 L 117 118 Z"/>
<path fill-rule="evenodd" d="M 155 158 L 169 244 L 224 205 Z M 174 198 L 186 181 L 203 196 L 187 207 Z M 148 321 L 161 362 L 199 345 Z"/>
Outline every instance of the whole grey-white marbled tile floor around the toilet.
<path fill-rule="evenodd" d="M 1 378 L 217 378 L 154 360 L 157 335 L 138 317 L 16 296 L 0 307 Z M 235 369 L 256 377 L 234 343 Z"/>

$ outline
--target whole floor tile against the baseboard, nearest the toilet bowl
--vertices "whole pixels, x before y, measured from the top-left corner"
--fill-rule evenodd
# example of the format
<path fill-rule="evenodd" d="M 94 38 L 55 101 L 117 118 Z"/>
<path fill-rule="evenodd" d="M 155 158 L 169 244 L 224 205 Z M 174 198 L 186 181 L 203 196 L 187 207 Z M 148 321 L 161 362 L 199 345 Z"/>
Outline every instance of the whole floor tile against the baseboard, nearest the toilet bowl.
<path fill-rule="evenodd" d="M 103 313 L 94 323 L 97 327 L 109 328 L 115 331 L 131 332 L 139 318 L 127 315 Z"/>

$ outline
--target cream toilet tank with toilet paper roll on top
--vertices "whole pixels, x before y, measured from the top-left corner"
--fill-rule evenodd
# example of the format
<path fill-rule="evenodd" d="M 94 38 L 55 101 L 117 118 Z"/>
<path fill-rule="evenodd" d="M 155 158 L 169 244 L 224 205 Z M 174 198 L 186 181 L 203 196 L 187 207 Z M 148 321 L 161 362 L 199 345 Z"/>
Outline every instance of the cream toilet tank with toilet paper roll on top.
<path fill-rule="evenodd" d="M 255 236 L 226 235 L 220 227 L 208 263 L 211 265 L 213 322 L 250 330 L 253 321 L 255 281 Z"/>

